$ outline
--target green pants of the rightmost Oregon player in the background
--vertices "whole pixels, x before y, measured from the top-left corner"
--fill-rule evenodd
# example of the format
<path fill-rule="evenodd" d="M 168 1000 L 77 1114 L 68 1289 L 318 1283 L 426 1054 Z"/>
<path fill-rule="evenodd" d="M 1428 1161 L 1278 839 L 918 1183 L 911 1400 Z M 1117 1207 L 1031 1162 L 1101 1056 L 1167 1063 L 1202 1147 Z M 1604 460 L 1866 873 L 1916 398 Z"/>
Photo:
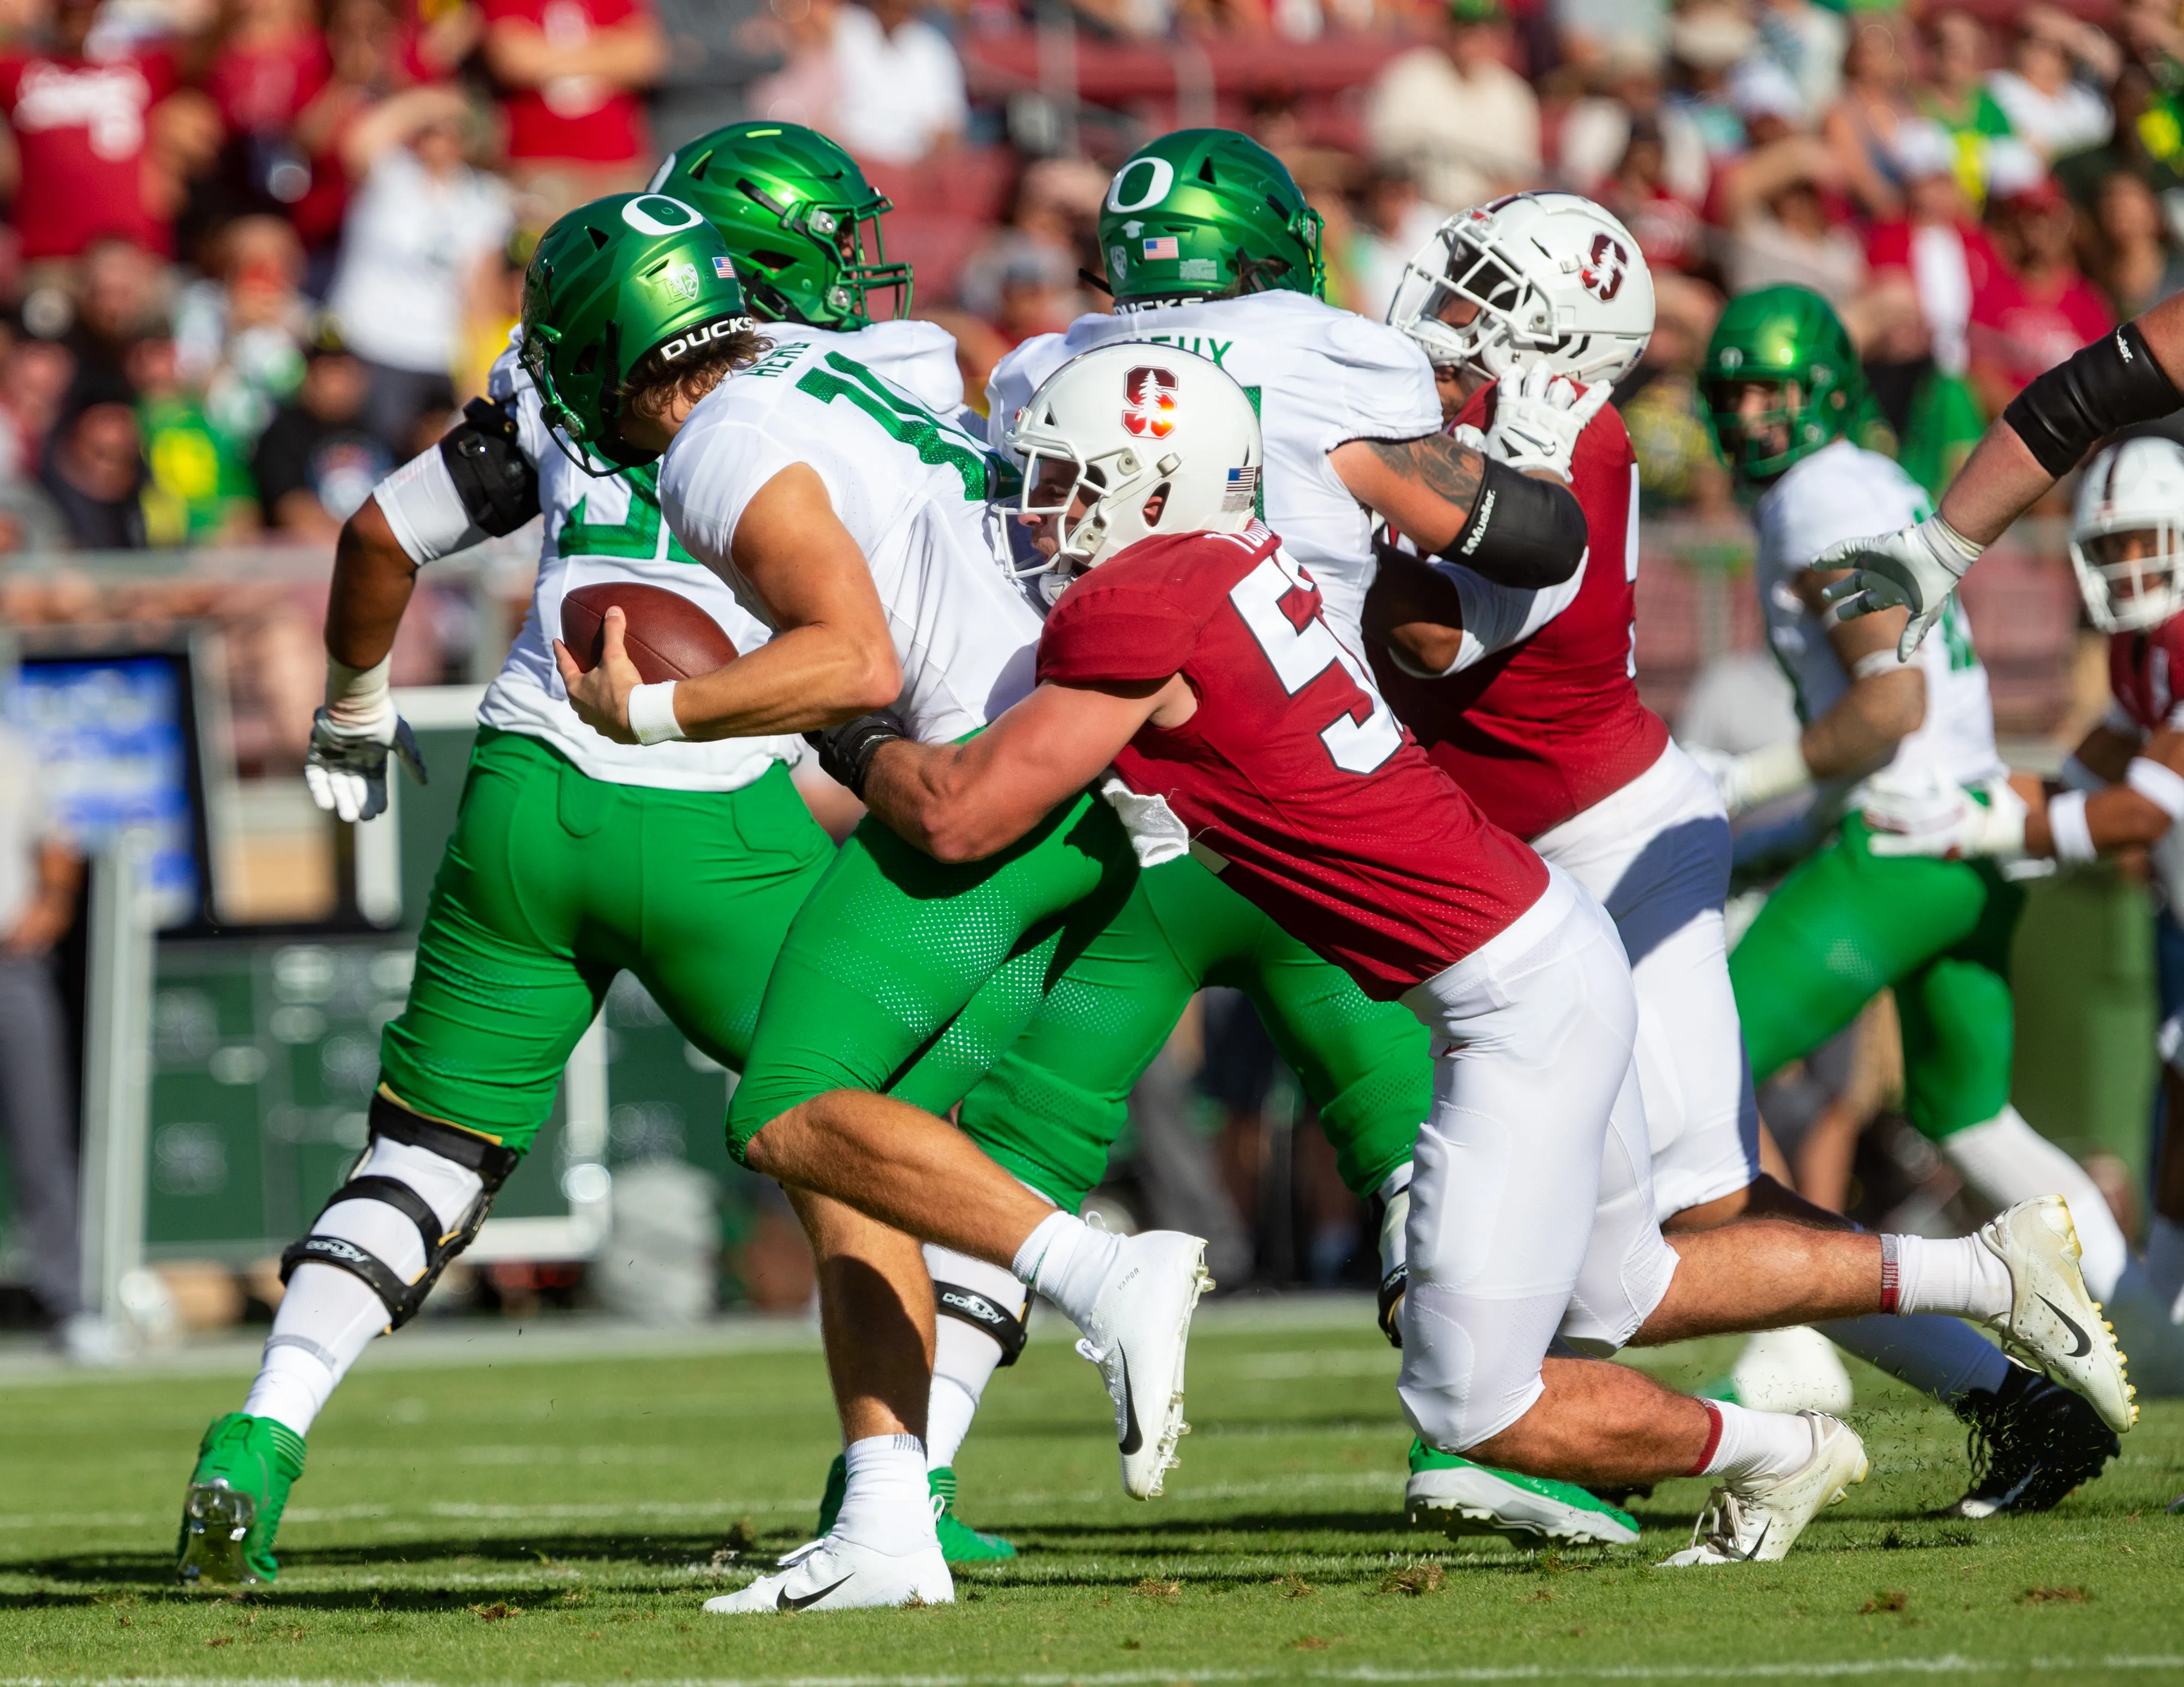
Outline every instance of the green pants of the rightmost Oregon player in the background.
<path fill-rule="evenodd" d="M 1911 1124 L 1939 1139 L 2009 1102 L 2009 941 L 2025 893 L 1994 862 L 1874 856 L 1852 814 L 1730 954 L 1756 1078 L 1804 1058 L 1896 991 Z"/>

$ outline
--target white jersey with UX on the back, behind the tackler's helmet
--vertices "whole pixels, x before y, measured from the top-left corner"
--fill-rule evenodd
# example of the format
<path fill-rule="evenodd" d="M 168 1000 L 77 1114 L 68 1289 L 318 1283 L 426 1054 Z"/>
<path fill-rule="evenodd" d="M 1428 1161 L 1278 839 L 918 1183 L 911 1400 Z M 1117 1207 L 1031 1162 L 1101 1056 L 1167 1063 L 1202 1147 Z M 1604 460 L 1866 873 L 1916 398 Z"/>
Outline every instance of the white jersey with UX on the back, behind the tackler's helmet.
<path fill-rule="evenodd" d="M 1374 574 L 1374 517 L 1350 495 L 1328 452 L 1352 439 L 1441 432 L 1426 354 L 1409 334 L 1304 292 L 1079 316 L 1066 334 L 1024 340 L 994 369 L 985 395 L 996 450 L 1040 382 L 1077 354 L 1118 340 L 1177 345 L 1212 358 L 1251 395 L 1267 439 L 1260 515 L 1319 585 L 1334 631 L 1363 650 L 1358 620 Z"/>

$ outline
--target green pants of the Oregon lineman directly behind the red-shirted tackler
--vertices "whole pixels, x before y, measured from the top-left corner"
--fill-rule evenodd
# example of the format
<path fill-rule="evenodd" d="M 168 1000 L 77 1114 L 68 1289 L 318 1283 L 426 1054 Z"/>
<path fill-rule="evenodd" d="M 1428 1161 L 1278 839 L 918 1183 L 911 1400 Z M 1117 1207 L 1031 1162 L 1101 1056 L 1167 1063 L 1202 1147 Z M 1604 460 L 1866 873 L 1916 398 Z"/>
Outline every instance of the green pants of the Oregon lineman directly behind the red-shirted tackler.
<path fill-rule="evenodd" d="M 1350 973 L 1188 856 L 1142 873 L 1114 923 L 1024 1002 L 1037 982 L 1005 967 L 935 1056 L 998 1050 L 963 1098 L 963 1130 L 1066 1211 L 1107 1174 L 1131 1087 L 1206 984 L 1251 997 L 1354 1194 L 1369 1196 L 1411 1159 L 1433 1100 L 1431 1037 L 1417 1015 L 1372 1002 Z M 1016 1026 L 1022 1034 L 1005 1041 Z"/>

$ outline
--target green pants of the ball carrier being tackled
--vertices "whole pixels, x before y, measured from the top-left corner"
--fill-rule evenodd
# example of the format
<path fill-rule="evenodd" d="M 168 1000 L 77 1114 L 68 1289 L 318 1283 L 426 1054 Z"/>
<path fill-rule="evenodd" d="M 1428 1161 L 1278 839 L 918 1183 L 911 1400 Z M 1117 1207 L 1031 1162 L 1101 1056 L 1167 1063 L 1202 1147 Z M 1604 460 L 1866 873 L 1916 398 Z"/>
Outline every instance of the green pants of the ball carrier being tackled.
<path fill-rule="evenodd" d="M 1053 982 L 1116 917 L 1138 860 L 1114 810 L 1079 797 L 981 862 L 937 862 L 867 818 L 788 928 L 751 1058 L 727 1109 L 736 1159 L 830 1089 L 946 1113 L 1016 1041 Z M 943 1034 L 1005 967 L 1002 1004 Z"/>

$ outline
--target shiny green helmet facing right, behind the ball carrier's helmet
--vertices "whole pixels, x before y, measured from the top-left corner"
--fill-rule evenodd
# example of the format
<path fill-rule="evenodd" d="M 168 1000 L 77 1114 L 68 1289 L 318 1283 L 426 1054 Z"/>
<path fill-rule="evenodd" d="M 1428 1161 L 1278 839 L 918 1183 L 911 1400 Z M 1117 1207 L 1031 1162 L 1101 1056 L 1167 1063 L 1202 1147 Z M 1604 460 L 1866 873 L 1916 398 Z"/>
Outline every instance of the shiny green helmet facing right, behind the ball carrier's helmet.
<path fill-rule="evenodd" d="M 697 205 L 727 240 L 751 310 L 775 323 L 867 327 L 871 295 L 911 314 L 911 266 L 889 264 L 887 194 L 802 122 L 732 122 L 668 153 L 653 192 Z M 871 253 L 867 258 L 867 236 Z"/>

